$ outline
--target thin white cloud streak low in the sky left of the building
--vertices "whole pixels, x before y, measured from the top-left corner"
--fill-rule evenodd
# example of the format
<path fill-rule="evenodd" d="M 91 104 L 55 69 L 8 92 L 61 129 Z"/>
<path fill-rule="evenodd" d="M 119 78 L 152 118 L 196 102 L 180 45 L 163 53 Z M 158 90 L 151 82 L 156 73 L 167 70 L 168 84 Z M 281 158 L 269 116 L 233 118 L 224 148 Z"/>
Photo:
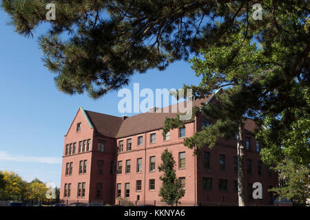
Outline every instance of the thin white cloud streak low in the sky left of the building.
<path fill-rule="evenodd" d="M 0 161 L 61 164 L 60 157 L 32 157 L 25 155 L 10 155 L 9 153 L 6 153 L 6 151 L 0 151 Z"/>

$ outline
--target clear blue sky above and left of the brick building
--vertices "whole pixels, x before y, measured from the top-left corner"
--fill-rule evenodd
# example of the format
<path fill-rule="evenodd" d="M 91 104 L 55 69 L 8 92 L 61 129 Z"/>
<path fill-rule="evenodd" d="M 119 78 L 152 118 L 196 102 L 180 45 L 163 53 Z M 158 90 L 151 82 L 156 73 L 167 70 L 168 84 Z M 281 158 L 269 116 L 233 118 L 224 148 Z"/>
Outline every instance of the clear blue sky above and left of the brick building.
<path fill-rule="evenodd" d="M 63 94 L 54 85 L 54 75 L 43 66 L 37 37 L 46 25 L 25 38 L 7 25 L 0 9 L 0 170 L 12 170 L 23 179 L 35 177 L 60 186 L 63 141 L 79 107 L 121 116 L 117 91 L 99 100 Z M 156 69 L 132 77 L 128 89 L 181 88 L 198 84 L 189 63 L 179 61 L 163 72 Z"/>

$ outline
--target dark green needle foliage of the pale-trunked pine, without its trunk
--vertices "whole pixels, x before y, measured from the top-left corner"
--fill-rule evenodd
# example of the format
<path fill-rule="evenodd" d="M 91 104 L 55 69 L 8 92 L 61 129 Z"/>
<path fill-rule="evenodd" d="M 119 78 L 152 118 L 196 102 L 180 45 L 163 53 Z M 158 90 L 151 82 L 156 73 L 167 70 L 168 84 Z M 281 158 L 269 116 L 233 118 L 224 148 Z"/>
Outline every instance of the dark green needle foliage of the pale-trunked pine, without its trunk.
<path fill-rule="evenodd" d="M 247 100 L 249 100 L 249 93 L 240 86 L 231 87 L 225 90 L 220 90 L 216 96 L 216 101 L 203 104 L 200 112 L 206 118 L 216 119 L 214 124 L 203 127 L 202 131 L 198 131 L 192 137 L 185 137 L 184 145 L 189 148 L 195 148 L 194 153 L 200 148 L 209 146 L 213 147 L 220 137 L 231 139 L 235 137 L 238 131 L 238 126 L 244 120 L 243 115 L 249 109 Z M 234 109 L 232 111 L 232 109 Z M 165 120 L 165 131 L 182 127 L 183 121 L 177 118 L 167 118 Z"/>

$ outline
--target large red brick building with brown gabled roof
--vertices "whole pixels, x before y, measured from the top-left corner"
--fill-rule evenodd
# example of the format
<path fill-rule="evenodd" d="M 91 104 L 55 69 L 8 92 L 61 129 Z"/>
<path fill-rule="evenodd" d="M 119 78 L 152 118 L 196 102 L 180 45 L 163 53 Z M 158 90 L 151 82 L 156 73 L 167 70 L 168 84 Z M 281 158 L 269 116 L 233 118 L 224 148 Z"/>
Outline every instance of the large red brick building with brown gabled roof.
<path fill-rule="evenodd" d="M 195 100 L 193 104 L 199 107 L 212 98 Z M 236 140 L 218 140 L 214 148 L 203 148 L 194 156 L 194 151 L 183 145 L 184 137 L 213 121 L 198 114 L 184 128 L 174 129 L 164 138 L 165 118 L 175 117 L 176 113 L 159 113 L 161 110 L 116 117 L 80 108 L 65 135 L 61 201 L 111 204 L 118 197 L 138 203 L 160 201 L 162 173 L 158 166 L 167 148 L 174 155 L 180 187 L 185 188 L 180 202 L 237 205 Z M 274 198 L 267 190 L 277 185 L 278 177 L 260 160 L 254 128 L 254 121 L 246 119 L 246 199 L 249 205 L 269 205 Z M 262 199 L 250 196 L 254 182 L 262 183 Z"/>

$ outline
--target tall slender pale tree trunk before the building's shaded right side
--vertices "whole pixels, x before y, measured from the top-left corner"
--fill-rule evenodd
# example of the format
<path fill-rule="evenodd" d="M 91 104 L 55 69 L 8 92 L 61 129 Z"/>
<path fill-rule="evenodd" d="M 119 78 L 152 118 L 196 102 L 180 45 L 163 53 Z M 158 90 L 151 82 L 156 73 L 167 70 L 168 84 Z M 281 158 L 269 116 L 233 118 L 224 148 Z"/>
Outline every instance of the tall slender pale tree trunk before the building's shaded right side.
<path fill-rule="evenodd" d="M 245 206 L 245 153 L 243 146 L 243 124 L 240 122 L 237 135 L 237 156 L 238 156 L 238 203 L 239 206 Z"/>

